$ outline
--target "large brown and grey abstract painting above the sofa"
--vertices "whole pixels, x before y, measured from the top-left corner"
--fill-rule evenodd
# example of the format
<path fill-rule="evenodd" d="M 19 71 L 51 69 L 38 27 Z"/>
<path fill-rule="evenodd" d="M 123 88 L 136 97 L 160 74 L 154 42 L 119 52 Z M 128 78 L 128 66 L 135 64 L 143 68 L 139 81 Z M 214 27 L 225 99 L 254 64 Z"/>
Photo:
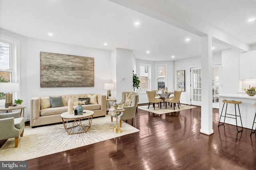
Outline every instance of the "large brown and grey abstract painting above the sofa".
<path fill-rule="evenodd" d="M 40 52 L 40 87 L 94 87 L 94 58 Z"/>

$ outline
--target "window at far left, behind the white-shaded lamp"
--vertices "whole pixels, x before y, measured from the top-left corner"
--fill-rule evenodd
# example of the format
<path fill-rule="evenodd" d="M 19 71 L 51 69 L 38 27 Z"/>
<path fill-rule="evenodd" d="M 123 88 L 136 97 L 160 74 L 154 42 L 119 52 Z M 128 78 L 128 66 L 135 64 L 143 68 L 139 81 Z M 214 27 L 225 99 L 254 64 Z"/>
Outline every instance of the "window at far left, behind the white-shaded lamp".
<path fill-rule="evenodd" d="M 0 82 L 13 82 L 13 44 L 0 39 Z M 5 93 L 0 93 L 0 100 Z"/>

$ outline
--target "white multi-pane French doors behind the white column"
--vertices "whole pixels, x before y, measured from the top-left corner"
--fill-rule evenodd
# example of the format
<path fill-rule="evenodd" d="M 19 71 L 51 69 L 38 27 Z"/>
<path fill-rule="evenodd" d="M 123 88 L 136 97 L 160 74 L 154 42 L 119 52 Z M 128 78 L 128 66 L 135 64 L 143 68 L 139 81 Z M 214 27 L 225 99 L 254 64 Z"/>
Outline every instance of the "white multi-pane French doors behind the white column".
<path fill-rule="evenodd" d="M 219 108 L 219 97 L 215 96 L 221 93 L 221 65 L 212 66 L 212 108 Z M 202 70 L 201 67 L 191 68 L 191 104 L 201 106 L 202 96 Z"/>

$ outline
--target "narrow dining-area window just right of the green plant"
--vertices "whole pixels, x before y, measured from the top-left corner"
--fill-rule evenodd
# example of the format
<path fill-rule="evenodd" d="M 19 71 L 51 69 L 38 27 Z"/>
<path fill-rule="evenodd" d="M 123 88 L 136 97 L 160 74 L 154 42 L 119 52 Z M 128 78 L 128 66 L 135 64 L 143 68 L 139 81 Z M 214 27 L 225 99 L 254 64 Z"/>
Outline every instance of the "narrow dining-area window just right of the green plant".
<path fill-rule="evenodd" d="M 150 66 L 140 65 L 140 92 L 146 92 L 149 90 L 149 72 Z"/>

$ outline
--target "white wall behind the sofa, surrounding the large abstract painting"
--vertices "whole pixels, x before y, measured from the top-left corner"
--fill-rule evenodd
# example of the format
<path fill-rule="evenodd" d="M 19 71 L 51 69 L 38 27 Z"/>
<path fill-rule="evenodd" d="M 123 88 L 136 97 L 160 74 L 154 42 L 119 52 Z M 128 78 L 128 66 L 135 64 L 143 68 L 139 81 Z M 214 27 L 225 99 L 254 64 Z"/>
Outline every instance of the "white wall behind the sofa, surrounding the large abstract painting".
<path fill-rule="evenodd" d="M 34 96 L 50 96 L 65 94 L 97 93 L 106 95 L 104 83 L 112 79 L 111 51 L 56 43 L 33 39 L 17 35 L 10 31 L 0 29 L 2 35 L 18 39 L 20 41 L 20 99 L 25 109 L 25 119 L 28 121 L 30 113 L 30 99 Z M 94 87 L 69 87 L 69 88 L 40 88 L 40 51 L 68 55 L 78 55 L 94 58 Z M 131 68 L 132 69 L 132 68 Z"/>

